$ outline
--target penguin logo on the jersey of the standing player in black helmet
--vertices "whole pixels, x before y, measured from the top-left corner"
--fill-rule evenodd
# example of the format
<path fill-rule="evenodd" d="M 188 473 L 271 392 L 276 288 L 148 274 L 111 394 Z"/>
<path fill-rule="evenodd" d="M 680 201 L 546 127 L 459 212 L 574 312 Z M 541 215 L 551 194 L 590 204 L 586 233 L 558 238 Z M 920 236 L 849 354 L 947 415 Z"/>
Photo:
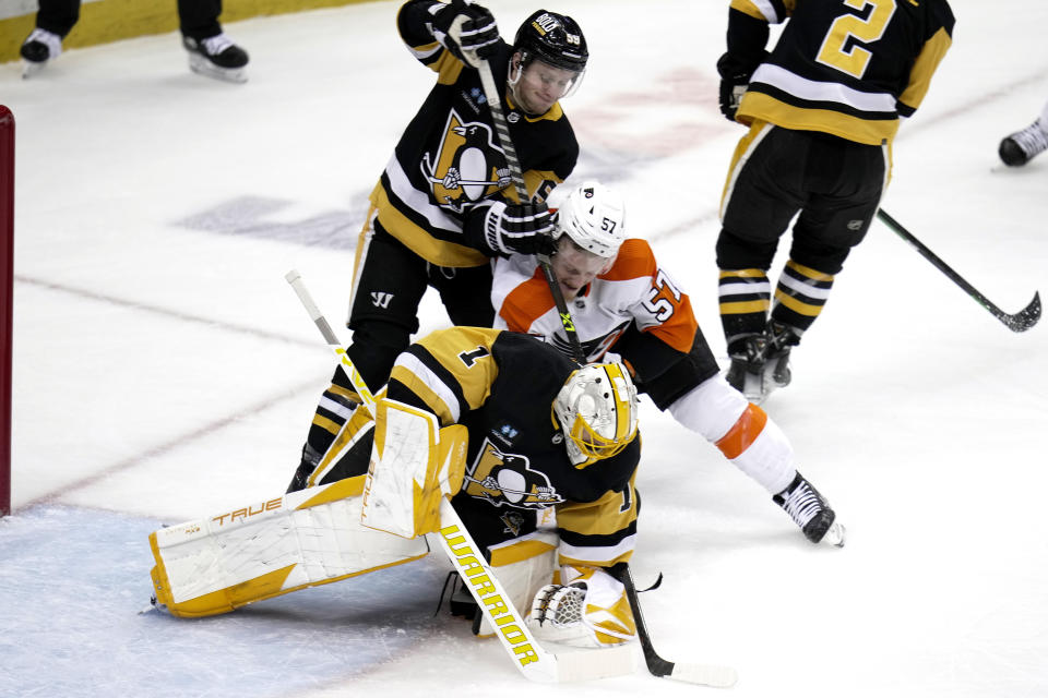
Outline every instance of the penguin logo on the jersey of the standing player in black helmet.
<path fill-rule="evenodd" d="M 512 181 L 502 151 L 492 140 L 491 127 L 480 121 L 463 123 L 454 110 L 448 117 L 436 156 L 426 153 L 419 167 L 429 180 L 433 198 L 456 214 Z"/>

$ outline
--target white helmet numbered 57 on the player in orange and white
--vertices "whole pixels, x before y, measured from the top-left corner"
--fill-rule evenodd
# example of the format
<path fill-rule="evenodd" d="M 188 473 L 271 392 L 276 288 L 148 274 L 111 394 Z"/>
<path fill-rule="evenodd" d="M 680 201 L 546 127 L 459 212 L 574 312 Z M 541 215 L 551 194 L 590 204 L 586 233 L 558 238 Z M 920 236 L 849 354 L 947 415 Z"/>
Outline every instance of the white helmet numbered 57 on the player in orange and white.
<path fill-rule="evenodd" d="M 626 240 L 626 204 L 604 184 L 579 184 L 557 209 L 553 238 L 567 233 L 583 250 L 610 258 Z"/>

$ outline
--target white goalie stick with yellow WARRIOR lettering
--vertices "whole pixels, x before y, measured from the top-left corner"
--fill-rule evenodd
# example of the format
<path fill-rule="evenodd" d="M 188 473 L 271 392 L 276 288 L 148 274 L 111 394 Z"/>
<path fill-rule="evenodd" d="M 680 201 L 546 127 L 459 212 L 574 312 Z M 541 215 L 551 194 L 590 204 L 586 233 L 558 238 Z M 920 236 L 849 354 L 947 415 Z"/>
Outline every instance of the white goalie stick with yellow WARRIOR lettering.
<path fill-rule="evenodd" d="M 327 320 L 317 308 L 302 282 L 301 275 L 293 269 L 285 275 L 285 278 L 324 336 L 324 341 L 338 357 L 338 363 L 357 395 L 364 400 L 364 407 L 373 416 L 376 413 L 374 395 L 368 389 L 360 372 L 346 356 L 346 350 L 327 324 Z M 513 606 L 510 594 L 505 592 L 488 564 L 484 551 L 474 542 L 448 497 L 441 498 L 440 529 L 437 535 L 451 564 L 462 576 L 465 586 L 469 588 L 477 605 L 491 627 L 497 629 L 496 635 L 502 647 L 524 676 L 549 683 L 587 681 L 632 673 L 633 655 L 629 646 L 567 654 L 555 654 L 543 649 L 524 623 L 524 616 Z"/>

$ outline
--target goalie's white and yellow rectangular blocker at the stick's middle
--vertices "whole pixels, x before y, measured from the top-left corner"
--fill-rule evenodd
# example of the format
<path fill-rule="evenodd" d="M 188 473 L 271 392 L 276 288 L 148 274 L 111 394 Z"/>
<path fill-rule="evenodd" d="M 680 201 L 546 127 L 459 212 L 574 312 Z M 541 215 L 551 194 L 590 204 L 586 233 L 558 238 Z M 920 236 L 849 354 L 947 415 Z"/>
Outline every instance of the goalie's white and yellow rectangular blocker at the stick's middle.
<path fill-rule="evenodd" d="M 440 528 L 441 497 L 465 478 L 468 432 L 396 400 L 376 405 L 374 446 L 364 492 L 364 525 L 403 538 Z"/>

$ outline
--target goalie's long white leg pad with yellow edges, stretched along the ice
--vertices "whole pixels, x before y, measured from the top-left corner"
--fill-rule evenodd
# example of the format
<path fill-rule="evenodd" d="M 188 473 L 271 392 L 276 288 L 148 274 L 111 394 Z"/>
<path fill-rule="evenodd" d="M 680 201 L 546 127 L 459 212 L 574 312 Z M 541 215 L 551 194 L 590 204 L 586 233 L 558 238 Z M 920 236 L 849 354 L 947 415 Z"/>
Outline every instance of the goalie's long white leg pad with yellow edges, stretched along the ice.
<path fill-rule="evenodd" d="M 151 533 L 157 603 L 215 615 L 426 555 L 425 539 L 361 526 L 362 489 L 347 478 Z"/>

